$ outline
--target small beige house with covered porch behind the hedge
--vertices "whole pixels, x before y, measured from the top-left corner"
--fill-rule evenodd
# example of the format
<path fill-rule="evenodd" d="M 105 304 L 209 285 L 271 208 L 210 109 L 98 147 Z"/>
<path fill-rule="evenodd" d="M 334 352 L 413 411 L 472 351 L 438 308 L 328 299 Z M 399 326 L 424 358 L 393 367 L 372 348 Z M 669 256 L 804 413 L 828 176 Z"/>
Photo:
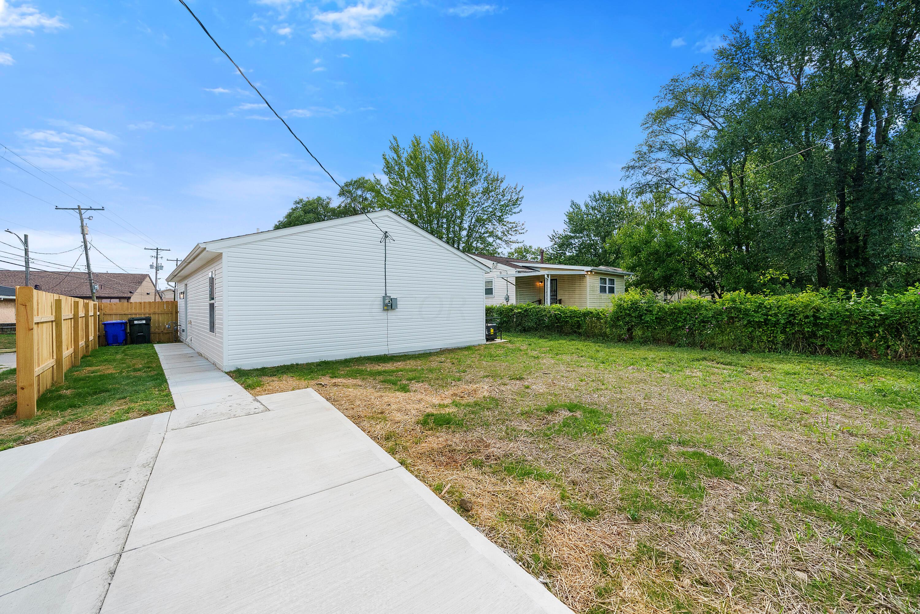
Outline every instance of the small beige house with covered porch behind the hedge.
<path fill-rule="evenodd" d="M 613 294 L 626 291 L 629 271 L 615 267 L 574 267 L 503 256 L 470 254 L 489 265 L 487 305 L 534 302 L 538 305 L 607 307 Z"/>

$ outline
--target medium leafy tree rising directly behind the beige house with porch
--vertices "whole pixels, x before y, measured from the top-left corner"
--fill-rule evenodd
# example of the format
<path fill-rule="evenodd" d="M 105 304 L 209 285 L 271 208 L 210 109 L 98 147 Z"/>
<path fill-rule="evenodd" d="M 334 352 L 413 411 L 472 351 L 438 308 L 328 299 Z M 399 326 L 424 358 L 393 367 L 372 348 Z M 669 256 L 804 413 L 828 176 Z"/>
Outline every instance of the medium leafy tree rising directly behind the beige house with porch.
<path fill-rule="evenodd" d="M 549 259 L 561 265 L 615 267 L 620 254 L 609 239 L 631 212 L 626 189 L 594 192 L 583 203 L 572 200 L 565 229 L 549 235 Z"/>

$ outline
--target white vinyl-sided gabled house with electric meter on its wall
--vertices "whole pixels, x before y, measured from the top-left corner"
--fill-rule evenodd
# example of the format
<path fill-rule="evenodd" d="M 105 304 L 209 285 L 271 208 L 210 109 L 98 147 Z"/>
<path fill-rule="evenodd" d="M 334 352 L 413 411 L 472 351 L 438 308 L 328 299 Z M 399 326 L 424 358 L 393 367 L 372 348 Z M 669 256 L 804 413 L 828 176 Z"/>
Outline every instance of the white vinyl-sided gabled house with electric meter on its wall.
<path fill-rule="evenodd" d="M 489 267 L 393 211 L 369 217 L 197 244 L 167 277 L 180 338 L 223 370 L 485 343 Z"/>

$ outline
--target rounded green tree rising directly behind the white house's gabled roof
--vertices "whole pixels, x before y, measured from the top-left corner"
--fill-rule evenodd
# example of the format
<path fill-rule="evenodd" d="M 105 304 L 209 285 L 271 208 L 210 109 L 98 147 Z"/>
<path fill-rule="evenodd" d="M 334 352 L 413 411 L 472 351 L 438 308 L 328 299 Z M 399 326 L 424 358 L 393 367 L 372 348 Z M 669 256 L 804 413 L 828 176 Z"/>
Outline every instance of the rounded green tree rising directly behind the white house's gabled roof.
<path fill-rule="evenodd" d="M 432 132 L 427 142 L 414 136 L 403 147 L 394 136 L 383 174 L 386 181 L 374 177 L 373 189 L 362 182 L 362 195 L 464 252 L 498 254 L 523 233 L 512 219 L 521 212 L 522 188 L 506 184 L 467 139 Z"/>

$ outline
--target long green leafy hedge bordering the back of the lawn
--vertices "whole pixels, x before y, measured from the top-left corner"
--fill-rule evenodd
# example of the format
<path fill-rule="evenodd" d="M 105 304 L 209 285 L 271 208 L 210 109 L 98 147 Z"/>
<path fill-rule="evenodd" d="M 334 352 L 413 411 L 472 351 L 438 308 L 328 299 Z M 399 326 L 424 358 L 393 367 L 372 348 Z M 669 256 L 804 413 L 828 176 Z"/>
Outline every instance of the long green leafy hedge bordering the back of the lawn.
<path fill-rule="evenodd" d="M 731 292 L 715 301 L 659 301 L 629 290 L 604 309 L 489 305 L 504 330 L 639 343 L 865 358 L 920 358 L 920 287 L 897 294 Z"/>

